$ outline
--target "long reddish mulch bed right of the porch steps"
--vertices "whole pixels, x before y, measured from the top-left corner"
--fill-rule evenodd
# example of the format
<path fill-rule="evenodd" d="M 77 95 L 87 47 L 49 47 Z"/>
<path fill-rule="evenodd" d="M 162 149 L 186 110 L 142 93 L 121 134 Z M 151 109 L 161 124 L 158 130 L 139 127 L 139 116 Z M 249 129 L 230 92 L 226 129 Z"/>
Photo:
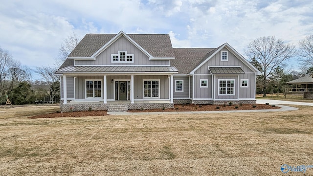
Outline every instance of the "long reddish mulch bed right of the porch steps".
<path fill-rule="evenodd" d="M 189 105 L 177 104 L 174 109 L 154 109 L 154 110 L 128 110 L 128 112 L 171 112 L 171 111 L 214 111 L 214 110 L 268 110 L 279 109 L 263 104 L 243 104 L 243 105 Z"/>

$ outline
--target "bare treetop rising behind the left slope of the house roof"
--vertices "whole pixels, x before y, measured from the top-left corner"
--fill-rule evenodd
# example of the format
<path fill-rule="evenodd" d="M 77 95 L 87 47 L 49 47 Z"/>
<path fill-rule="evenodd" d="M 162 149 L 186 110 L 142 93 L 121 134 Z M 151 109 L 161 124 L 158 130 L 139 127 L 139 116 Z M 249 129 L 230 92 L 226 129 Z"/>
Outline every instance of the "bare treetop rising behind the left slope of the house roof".
<path fill-rule="evenodd" d="M 55 59 L 57 67 L 64 63 L 64 61 L 67 59 L 67 56 L 73 51 L 79 42 L 80 37 L 78 37 L 74 32 L 63 41 L 61 47 L 59 48 L 59 55 Z"/>

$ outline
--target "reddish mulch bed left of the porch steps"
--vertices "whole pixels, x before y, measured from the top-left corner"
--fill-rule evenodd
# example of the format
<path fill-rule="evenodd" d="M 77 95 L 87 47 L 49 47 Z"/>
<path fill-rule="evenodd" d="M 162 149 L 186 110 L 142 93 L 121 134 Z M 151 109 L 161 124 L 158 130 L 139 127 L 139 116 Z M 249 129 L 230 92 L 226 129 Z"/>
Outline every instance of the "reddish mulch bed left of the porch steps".
<path fill-rule="evenodd" d="M 103 116 L 108 115 L 105 110 L 93 110 L 93 111 L 75 111 L 75 112 L 55 112 L 55 113 L 47 113 L 41 115 L 35 115 L 32 117 L 28 117 L 31 119 L 36 118 L 56 118 L 56 117 L 87 117 L 87 116 Z"/>

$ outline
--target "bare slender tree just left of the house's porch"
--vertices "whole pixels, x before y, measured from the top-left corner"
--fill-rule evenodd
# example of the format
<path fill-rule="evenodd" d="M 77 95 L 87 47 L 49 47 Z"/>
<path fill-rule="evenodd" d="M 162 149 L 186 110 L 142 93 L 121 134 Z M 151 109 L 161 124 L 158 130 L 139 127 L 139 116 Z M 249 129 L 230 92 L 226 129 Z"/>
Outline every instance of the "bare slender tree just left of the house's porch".
<path fill-rule="evenodd" d="M 56 68 L 50 67 L 50 66 L 43 66 L 43 67 L 36 67 L 35 72 L 40 74 L 42 78 L 45 79 L 45 81 L 48 83 L 49 85 L 49 90 L 50 90 L 50 99 L 52 100 L 52 104 L 53 104 L 53 100 L 54 97 L 56 95 L 58 95 L 59 90 L 58 88 L 55 88 L 53 86 L 53 84 L 56 81 L 59 81 L 59 77 L 55 75 L 55 70 Z"/>

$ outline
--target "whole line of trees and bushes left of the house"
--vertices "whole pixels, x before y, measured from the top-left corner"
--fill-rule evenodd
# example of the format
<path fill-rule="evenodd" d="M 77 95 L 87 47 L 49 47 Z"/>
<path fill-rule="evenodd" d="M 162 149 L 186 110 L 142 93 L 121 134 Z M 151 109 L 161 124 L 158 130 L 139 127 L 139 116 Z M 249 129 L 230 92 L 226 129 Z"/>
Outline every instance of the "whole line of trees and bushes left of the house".
<path fill-rule="evenodd" d="M 59 102 L 60 78 L 55 71 L 67 59 L 69 53 L 79 43 L 80 38 L 72 33 L 63 41 L 54 66 L 40 66 L 35 70 L 22 66 L 13 59 L 8 50 L 0 47 L 0 104 L 5 104 L 6 97 L 12 104 L 32 104 L 35 102 Z M 42 81 L 32 81 L 32 72 L 41 75 Z"/>

